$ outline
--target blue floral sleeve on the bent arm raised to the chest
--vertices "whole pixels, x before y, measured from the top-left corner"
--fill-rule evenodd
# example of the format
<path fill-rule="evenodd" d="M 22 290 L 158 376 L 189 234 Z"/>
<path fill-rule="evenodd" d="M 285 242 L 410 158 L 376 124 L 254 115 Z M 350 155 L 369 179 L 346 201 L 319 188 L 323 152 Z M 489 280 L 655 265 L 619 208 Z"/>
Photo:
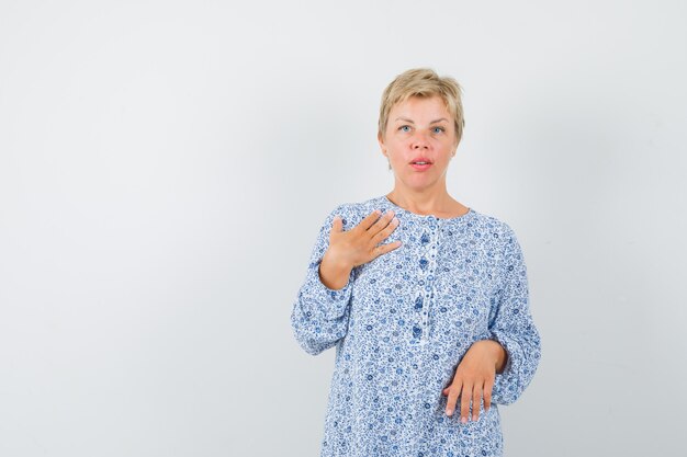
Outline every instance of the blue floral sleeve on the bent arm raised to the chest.
<path fill-rule="evenodd" d="M 301 347 L 312 355 L 334 346 L 348 331 L 349 302 L 353 273 L 340 289 L 330 289 L 322 283 L 319 263 L 329 247 L 329 230 L 336 215 L 344 217 L 342 205 L 327 216 L 319 229 L 311 254 L 305 281 L 299 289 L 291 312 L 291 327 Z"/>

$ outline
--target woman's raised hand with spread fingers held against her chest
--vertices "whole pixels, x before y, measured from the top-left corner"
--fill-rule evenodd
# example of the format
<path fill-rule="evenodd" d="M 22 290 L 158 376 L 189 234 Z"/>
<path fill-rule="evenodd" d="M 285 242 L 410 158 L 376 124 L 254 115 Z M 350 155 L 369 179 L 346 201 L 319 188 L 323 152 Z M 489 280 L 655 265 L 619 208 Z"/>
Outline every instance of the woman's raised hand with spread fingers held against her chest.
<path fill-rule="evenodd" d="M 398 218 L 393 210 L 380 217 L 380 210 L 375 209 L 347 231 L 344 231 L 341 217 L 336 216 L 329 231 L 329 248 L 319 265 L 323 283 L 333 289 L 341 288 L 353 267 L 398 248 L 401 241 L 380 244 L 397 226 Z"/>

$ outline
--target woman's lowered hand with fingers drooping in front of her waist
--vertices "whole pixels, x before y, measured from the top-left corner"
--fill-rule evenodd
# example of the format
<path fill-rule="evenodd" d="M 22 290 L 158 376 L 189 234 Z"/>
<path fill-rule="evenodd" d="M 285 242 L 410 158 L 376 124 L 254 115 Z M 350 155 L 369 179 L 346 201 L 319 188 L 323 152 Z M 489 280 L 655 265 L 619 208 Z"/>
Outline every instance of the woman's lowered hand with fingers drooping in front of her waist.
<path fill-rule="evenodd" d="M 484 398 L 484 411 L 492 404 L 492 388 L 497 369 L 503 369 L 507 357 L 506 350 L 494 340 L 475 341 L 455 368 L 453 382 L 441 391 L 449 396 L 446 413 L 452 415 L 458 398 L 461 399 L 461 422 L 468 422 L 472 400 L 472 420 L 480 415 L 480 404 Z"/>

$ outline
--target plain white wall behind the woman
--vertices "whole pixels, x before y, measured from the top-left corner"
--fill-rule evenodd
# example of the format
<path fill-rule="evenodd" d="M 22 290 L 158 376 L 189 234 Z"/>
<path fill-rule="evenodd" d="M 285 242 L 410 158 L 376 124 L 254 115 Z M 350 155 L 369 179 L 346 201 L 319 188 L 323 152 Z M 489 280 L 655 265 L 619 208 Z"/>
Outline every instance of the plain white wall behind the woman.
<path fill-rule="evenodd" d="M 506 455 L 685 452 L 682 1 L 0 2 L 0 455 L 315 456 L 317 229 L 387 193 L 379 102 L 464 89 L 449 192 L 522 245 Z"/>

